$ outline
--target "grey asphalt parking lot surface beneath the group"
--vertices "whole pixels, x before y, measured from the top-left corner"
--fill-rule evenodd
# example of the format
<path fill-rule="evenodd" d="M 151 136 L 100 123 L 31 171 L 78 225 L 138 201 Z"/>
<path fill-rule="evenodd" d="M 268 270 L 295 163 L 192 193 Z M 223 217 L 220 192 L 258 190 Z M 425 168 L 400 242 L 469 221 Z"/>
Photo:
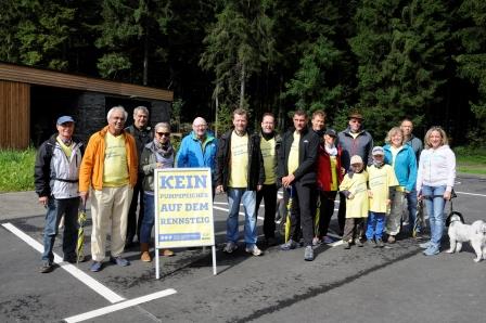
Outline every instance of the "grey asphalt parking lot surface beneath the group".
<path fill-rule="evenodd" d="M 456 190 L 466 222 L 486 220 L 486 179 L 459 177 Z M 90 262 L 63 262 L 39 273 L 43 209 L 31 193 L 0 194 L 0 322 L 486 322 L 486 261 L 475 263 L 470 246 L 425 257 L 412 238 L 384 249 L 337 244 L 318 247 L 312 262 L 303 248 L 253 257 L 241 244 L 226 255 L 226 197 L 216 202 L 218 274 L 209 248 L 179 249 L 161 258 L 157 281 L 136 248 L 127 268 L 91 273 Z M 90 224 L 87 250 L 89 233 Z"/>

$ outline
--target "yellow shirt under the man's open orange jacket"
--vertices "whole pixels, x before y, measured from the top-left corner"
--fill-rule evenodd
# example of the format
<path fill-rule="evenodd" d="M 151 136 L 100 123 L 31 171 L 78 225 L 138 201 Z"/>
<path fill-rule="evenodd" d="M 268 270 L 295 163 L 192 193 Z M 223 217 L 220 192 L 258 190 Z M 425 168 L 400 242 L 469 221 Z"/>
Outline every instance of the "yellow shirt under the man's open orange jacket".
<path fill-rule="evenodd" d="M 128 184 L 128 162 L 125 134 L 113 135 L 106 132 L 104 152 L 103 186 L 119 188 Z"/>

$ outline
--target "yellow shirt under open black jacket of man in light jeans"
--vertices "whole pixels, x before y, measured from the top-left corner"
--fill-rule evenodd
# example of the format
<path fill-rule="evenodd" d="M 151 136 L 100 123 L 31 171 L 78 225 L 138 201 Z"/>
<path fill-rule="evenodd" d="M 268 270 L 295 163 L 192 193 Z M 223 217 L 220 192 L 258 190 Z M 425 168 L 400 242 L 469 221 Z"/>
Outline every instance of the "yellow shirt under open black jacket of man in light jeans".
<path fill-rule="evenodd" d="M 230 181 L 228 186 L 234 189 L 246 189 L 248 181 L 246 173 L 248 169 L 248 134 L 238 135 L 231 133 L 231 162 Z"/>

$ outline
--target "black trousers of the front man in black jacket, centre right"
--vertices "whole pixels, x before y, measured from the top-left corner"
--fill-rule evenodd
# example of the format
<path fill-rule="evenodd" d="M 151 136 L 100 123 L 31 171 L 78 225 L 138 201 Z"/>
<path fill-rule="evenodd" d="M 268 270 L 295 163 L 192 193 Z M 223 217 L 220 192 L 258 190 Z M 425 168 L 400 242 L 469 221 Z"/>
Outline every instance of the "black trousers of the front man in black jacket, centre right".
<path fill-rule="evenodd" d="M 291 209 L 291 234 L 293 241 L 298 242 L 302 235 L 304 245 L 311 246 L 314 237 L 314 210 L 311 194 L 316 194 L 315 184 L 303 185 L 299 182 L 293 184 L 292 189 L 292 209 Z M 290 192 L 285 190 L 285 204 L 289 203 Z"/>

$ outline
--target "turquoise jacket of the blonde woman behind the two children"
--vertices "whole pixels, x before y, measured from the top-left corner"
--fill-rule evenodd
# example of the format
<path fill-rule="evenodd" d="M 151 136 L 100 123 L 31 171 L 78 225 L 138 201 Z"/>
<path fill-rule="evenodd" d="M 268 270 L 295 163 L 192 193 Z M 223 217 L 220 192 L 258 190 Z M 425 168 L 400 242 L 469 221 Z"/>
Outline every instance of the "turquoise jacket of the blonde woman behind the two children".
<path fill-rule="evenodd" d="M 384 145 L 383 150 L 385 151 L 385 163 L 392 165 L 393 156 L 389 144 Z M 417 158 L 410 145 L 404 144 L 402 148 L 398 152 L 395 157 L 394 170 L 398 183 L 405 186 L 406 191 L 411 192 L 417 181 Z"/>

